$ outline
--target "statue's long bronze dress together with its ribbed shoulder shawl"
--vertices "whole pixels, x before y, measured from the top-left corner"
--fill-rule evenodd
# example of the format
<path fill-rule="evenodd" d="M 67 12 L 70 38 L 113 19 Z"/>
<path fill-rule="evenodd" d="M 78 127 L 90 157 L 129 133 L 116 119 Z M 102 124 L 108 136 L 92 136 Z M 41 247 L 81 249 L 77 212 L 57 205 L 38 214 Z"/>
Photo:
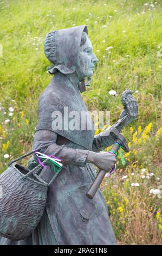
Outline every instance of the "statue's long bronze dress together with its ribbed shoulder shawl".
<path fill-rule="evenodd" d="M 68 106 L 69 111 L 87 111 L 79 89 L 59 73 L 40 96 L 33 149 L 50 142 L 56 147 L 66 145 L 69 148 L 66 149 L 67 155 L 70 148 L 77 149 L 78 154 L 75 161 L 63 164 L 60 173 L 48 187 L 46 208 L 33 233 L 21 241 L 0 237 L 0 245 L 116 245 L 100 188 L 93 199 L 86 196 L 96 176 L 93 164 L 86 161 L 88 150 L 99 152 L 113 144 L 113 138 L 110 135 L 100 136 L 100 133 L 94 136 L 93 131 L 60 131 L 59 135 L 56 134 L 62 136 L 61 143 L 57 144 L 55 132 L 51 129 L 51 115 L 55 109 L 63 113 L 64 106 Z M 64 157 L 63 151 L 64 148 L 57 155 L 60 159 Z M 40 174 L 48 182 L 53 175 L 51 166 L 43 168 Z"/>

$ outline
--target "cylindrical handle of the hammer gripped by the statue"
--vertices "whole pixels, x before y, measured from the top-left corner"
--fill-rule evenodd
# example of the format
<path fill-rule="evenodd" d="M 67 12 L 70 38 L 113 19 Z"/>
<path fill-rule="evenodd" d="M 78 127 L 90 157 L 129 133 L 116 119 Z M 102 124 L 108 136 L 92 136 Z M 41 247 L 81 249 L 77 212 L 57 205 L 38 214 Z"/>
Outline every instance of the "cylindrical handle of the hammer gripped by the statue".
<path fill-rule="evenodd" d="M 115 153 L 118 151 L 119 146 L 117 144 L 113 144 L 113 147 L 111 150 L 115 151 Z M 100 184 L 106 174 L 106 170 L 102 170 L 100 169 L 98 174 L 96 175 L 96 178 L 94 179 L 92 185 L 90 186 L 88 192 L 86 193 L 86 196 L 89 199 L 93 199 L 95 196 L 96 191 L 98 190 L 98 188 L 100 187 Z"/>

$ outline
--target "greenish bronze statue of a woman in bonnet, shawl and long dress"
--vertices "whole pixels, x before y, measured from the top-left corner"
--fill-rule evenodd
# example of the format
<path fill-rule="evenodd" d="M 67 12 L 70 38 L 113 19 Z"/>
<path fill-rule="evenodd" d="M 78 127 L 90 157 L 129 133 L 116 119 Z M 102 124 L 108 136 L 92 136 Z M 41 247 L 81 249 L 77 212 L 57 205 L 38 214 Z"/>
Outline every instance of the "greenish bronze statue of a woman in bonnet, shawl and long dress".
<path fill-rule="evenodd" d="M 64 145 L 57 154 L 62 159 L 63 168 L 49 186 L 46 208 L 33 233 L 17 242 L 1 237 L 0 244 L 116 245 L 101 190 L 98 189 L 93 199 L 86 197 L 96 176 L 93 164 L 106 171 L 115 164 L 114 155 L 100 152 L 112 145 L 114 138 L 111 135 L 102 136 L 102 133 L 94 136 L 93 126 L 91 130 L 70 130 L 66 127 L 56 129 L 54 124 L 55 111 L 61 113 L 63 120 L 66 107 L 69 113 L 87 111 L 81 93 L 86 90 L 85 78 L 90 79 L 98 62 L 87 26 L 48 33 L 44 40 L 44 52 L 54 64 L 49 68 L 49 73 L 54 76 L 40 96 L 33 149 L 47 145 L 41 153 L 54 154 Z M 126 93 L 125 104 L 118 122 L 113 125 L 119 130 L 137 117 L 137 102 L 131 92 Z M 86 127 L 91 122 L 90 118 L 81 121 Z M 36 155 L 34 160 L 38 164 Z M 54 175 L 53 167 L 46 166 L 40 175 L 49 182 Z"/>

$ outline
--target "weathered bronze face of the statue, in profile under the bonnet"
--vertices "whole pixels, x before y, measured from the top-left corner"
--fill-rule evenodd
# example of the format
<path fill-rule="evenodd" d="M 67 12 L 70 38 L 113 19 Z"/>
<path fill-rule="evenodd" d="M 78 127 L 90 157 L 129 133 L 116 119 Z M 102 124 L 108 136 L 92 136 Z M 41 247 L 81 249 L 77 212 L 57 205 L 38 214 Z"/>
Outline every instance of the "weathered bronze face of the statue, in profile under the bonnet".
<path fill-rule="evenodd" d="M 83 77 L 91 77 L 98 59 L 93 53 L 92 42 L 90 42 L 88 37 L 85 44 L 80 47 L 78 62 Z"/>

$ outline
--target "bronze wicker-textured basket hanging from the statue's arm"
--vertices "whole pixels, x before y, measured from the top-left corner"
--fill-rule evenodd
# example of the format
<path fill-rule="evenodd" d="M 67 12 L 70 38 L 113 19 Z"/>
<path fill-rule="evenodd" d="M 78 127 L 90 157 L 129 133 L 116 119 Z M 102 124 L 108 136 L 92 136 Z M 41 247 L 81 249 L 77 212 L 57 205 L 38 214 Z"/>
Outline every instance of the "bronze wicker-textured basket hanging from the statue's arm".
<path fill-rule="evenodd" d="M 54 155 L 63 147 L 64 145 Z M 11 240 L 23 240 L 36 228 L 44 211 L 48 186 L 60 173 L 55 173 L 48 184 L 38 176 L 43 169 L 42 164 L 29 170 L 16 163 L 33 153 L 34 150 L 12 160 L 8 169 L 0 175 L 0 234 Z M 43 163 L 47 161 L 48 159 Z"/>

